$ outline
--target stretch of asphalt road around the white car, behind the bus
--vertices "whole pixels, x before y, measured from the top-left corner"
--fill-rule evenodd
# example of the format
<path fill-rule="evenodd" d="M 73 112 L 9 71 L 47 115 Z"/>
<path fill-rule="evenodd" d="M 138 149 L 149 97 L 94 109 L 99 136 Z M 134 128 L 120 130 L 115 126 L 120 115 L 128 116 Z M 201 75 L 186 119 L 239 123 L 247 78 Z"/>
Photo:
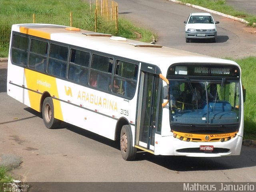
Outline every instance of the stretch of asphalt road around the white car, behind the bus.
<path fill-rule="evenodd" d="M 236 20 L 212 14 L 217 24 L 216 43 L 197 40 L 185 42 L 184 20 L 191 12 L 205 12 L 197 8 L 167 0 L 116 0 L 119 17 L 158 35 L 157 44 L 215 57 L 242 58 L 256 53 L 256 29 Z M 255 7 L 256 5 L 254 5 Z"/>

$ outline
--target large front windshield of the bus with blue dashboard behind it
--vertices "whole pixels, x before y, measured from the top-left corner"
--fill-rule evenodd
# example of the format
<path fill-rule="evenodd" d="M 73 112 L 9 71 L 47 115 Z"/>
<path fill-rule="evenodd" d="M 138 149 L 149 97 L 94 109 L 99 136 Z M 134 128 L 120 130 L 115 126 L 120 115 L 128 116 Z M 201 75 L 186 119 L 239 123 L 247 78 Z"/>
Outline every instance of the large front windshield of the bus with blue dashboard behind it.
<path fill-rule="evenodd" d="M 240 122 L 239 82 L 170 80 L 170 122 L 224 125 Z"/>

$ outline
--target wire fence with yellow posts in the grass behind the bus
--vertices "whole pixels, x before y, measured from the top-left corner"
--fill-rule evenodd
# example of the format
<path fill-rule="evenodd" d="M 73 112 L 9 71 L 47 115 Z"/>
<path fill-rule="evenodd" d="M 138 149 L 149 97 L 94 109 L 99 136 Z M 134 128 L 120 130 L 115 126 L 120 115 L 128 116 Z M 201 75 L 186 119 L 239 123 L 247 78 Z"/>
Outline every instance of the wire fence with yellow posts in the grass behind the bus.
<path fill-rule="evenodd" d="M 0 52 L 8 51 L 12 24 L 49 23 L 95 32 L 116 34 L 118 32 L 118 4 L 114 1 L 98 0 L 90 10 L 74 12 L 49 12 L 44 14 L 11 14 L 0 20 Z"/>

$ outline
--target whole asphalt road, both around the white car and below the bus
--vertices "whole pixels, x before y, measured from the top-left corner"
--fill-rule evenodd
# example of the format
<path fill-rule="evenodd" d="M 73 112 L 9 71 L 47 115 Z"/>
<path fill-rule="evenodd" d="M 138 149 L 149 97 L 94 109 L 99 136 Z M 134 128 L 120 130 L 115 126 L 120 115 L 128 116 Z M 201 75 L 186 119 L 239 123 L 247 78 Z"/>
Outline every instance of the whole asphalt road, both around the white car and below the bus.
<path fill-rule="evenodd" d="M 163 0 L 120 0 L 118 3 L 120 15 L 153 29 L 159 35 L 159 44 L 211 56 L 255 55 L 256 35 L 247 32 L 244 24 L 239 22 L 214 15 L 220 21 L 220 38 L 217 43 L 186 44 L 183 20 L 186 20 L 190 12 L 198 10 Z M 221 158 L 154 156 L 139 152 L 136 161 L 126 162 L 122 159 L 117 142 L 69 124 L 64 124 L 60 129 L 48 130 L 41 114 L 7 96 L 6 72 L 6 63 L 0 63 L 0 154 L 16 154 L 22 157 L 21 166 L 12 170 L 12 174 L 20 180 L 256 182 L 256 148 L 242 146 L 240 156 Z M 143 186 L 137 187 L 143 191 L 150 185 Z M 105 185 L 101 187 L 106 189 Z M 118 189 L 132 190 L 127 186 L 122 187 L 124 185 Z M 161 191 L 161 188 L 155 190 Z"/>

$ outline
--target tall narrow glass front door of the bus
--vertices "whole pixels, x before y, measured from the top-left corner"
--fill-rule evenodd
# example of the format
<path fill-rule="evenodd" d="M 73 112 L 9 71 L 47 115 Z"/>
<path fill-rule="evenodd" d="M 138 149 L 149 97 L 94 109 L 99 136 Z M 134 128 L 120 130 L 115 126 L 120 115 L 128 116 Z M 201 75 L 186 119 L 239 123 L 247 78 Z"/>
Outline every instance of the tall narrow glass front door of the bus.
<path fill-rule="evenodd" d="M 159 76 L 148 72 L 142 72 L 140 78 L 135 146 L 151 153 L 154 153 L 159 80 Z"/>

